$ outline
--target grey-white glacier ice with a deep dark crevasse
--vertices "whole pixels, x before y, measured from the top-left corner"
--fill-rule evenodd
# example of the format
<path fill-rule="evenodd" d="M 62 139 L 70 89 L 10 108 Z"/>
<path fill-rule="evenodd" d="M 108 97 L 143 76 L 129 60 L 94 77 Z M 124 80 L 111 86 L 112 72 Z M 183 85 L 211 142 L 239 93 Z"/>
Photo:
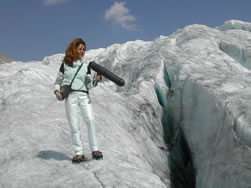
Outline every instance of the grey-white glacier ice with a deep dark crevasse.
<path fill-rule="evenodd" d="M 250 32 L 229 20 L 88 50 L 126 84 L 90 90 L 104 159 L 80 165 L 53 94 L 64 54 L 0 64 L 0 187 L 251 187 Z"/>

